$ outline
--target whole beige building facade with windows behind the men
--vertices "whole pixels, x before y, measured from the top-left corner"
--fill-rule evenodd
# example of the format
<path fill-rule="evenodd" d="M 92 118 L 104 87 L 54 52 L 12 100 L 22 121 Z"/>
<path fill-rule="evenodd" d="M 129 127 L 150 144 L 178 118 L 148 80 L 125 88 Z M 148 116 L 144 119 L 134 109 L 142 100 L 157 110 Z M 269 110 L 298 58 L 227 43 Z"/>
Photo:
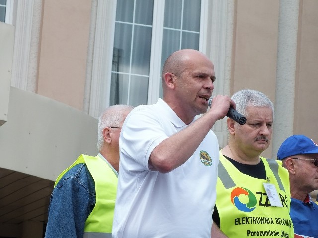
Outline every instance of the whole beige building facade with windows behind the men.
<path fill-rule="evenodd" d="M 292 134 L 318 141 L 317 10 L 317 0 L 0 0 L 0 238 L 43 237 L 53 181 L 97 153 L 96 118 L 156 103 L 179 49 L 214 62 L 214 95 L 249 88 L 272 100 L 263 156 Z M 225 119 L 212 129 L 225 146 Z"/>

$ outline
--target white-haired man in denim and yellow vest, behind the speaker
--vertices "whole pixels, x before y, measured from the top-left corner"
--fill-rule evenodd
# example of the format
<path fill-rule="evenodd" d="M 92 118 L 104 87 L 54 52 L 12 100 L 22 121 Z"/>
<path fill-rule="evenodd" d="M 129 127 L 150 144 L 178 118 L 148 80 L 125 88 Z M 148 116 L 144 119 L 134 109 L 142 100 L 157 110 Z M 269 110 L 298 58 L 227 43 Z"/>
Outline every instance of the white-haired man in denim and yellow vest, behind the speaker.
<path fill-rule="evenodd" d="M 98 155 L 81 154 L 56 179 L 45 238 L 111 238 L 119 170 L 119 135 L 134 107 L 113 105 L 99 117 Z"/>

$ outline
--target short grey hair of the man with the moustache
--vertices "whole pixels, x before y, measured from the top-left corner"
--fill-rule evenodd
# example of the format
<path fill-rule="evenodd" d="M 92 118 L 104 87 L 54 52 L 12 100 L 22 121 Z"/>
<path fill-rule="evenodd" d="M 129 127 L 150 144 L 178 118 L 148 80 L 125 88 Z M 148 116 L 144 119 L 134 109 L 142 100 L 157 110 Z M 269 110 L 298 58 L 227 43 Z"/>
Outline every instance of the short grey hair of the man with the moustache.
<path fill-rule="evenodd" d="M 251 89 L 243 89 L 233 94 L 231 99 L 235 102 L 236 110 L 245 117 L 248 116 L 246 112 L 246 108 L 248 106 L 270 107 L 272 109 L 274 119 L 274 104 L 262 92 Z"/>

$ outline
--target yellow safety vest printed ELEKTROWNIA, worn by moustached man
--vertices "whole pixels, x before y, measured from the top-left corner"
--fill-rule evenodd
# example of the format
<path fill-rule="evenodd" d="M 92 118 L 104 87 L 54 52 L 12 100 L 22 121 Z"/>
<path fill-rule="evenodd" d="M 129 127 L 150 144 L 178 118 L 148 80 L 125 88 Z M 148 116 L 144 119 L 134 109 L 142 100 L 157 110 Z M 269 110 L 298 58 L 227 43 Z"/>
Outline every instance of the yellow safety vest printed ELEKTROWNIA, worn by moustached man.
<path fill-rule="evenodd" d="M 270 205 L 263 186 L 266 180 L 239 172 L 220 152 L 216 199 L 220 229 L 229 238 L 294 238 L 288 171 L 281 161 L 262 157 L 261 160 L 267 180 L 275 185 L 283 207 Z"/>

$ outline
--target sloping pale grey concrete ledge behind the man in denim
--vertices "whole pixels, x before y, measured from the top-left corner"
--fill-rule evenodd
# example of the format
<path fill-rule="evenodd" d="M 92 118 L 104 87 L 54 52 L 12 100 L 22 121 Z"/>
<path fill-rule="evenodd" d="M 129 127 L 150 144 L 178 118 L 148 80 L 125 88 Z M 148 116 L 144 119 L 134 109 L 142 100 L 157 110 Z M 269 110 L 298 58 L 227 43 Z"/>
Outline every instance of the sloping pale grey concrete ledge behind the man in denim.
<path fill-rule="evenodd" d="M 97 126 L 73 107 L 11 87 L 0 167 L 55 181 L 81 153 L 98 153 Z"/>

